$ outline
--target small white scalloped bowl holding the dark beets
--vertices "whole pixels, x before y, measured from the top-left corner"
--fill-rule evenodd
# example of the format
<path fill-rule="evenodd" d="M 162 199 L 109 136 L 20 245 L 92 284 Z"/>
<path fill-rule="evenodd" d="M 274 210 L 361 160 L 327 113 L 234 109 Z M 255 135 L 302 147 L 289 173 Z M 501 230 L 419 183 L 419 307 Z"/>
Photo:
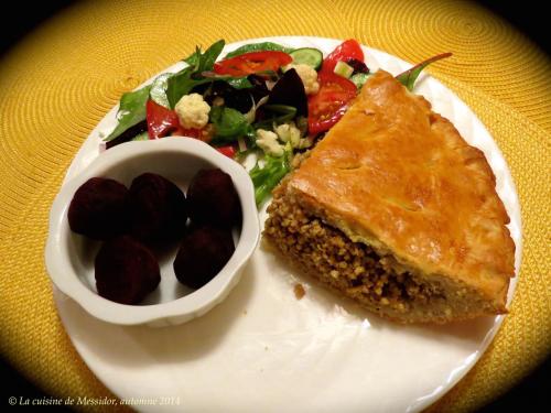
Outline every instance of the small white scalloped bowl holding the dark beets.
<path fill-rule="evenodd" d="M 219 167 L 234 181 L 241 202 L 240 232 L 234 231 L 236 250 L 224 269 L 206 285 L 193 291 L 177 282 L 172 263 L 176 253 L 159 257 L 161 283 L 140 305 L 125 305 L 96 292 L 94 259 L 100 243 L 74 233 L 67 210 L 77 188 L 94 176 L 110 177 L 129 186 L 132 180 L 153 172 L 182 189 L 197 171 Z M 260 238 L 255 189 L 245 169 L 208 144 L 190 138 L 127 142 L 101 153 L 86 170 L 66 182 L 50 213 L 46 269 L 54 284 L 93 316 L 114 324 L 176 325 L 198 317 L 220 303 L 237 284 Z"/>

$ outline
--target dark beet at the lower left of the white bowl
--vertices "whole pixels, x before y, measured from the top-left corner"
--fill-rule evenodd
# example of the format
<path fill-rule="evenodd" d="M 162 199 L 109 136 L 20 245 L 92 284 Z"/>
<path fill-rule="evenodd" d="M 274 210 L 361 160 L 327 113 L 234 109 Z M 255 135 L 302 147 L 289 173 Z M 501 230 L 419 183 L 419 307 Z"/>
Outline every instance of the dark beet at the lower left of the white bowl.
<path fill-rule="evenodd" d="M 153 253 L 128 236 L 105 242 L 95 264 L 98 294 L 117 303 L 138 304 L 161 281 Z"/>

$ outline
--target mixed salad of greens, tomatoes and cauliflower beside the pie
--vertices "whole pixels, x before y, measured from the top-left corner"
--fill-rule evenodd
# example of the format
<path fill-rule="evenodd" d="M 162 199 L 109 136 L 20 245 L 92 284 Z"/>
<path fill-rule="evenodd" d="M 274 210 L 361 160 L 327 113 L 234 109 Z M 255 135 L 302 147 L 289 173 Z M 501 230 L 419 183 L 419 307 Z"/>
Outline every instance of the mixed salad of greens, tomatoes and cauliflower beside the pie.
<path fill-rule="evenodd" d="M 257 156 L 249 174 L 258 205 L 291 170 L 296 153 L 312 148 L 342 118 L 369 68 L 355 40 L 324 56 L 317 48 L 272 42 L 244 45 L 222 59 L 220 40 L 183 61 L 177 73 L 158 76 L 120 99 L 106 148 L 132 140 L 182 135 L 207 142 L 241 162 Z M 421 70 L 450 56 L 434 56 L 397 76 L 413 89 Z"/>

